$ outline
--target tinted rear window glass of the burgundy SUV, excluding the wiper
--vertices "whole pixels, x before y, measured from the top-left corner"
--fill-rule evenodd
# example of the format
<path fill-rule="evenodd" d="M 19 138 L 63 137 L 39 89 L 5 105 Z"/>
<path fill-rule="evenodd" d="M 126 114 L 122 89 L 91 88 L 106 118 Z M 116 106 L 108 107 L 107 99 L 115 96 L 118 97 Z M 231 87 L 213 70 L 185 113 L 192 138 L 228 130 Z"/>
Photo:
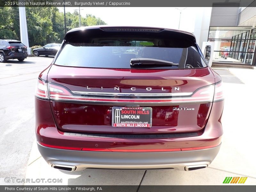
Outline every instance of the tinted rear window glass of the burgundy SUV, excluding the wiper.
<path fill-rule="evenodd" d="M 88 68 L 203 68 L 204 60 L 194 46 L 159 46 L 163 40 L 109 40 L 100 39 L 95 43 L 68 42 L 62 48 L 55 64 Z M 184 45 L 184 44 L 183 44 Z M 130 65 L 132 59 L 156 59 L 169 61 Z"/>

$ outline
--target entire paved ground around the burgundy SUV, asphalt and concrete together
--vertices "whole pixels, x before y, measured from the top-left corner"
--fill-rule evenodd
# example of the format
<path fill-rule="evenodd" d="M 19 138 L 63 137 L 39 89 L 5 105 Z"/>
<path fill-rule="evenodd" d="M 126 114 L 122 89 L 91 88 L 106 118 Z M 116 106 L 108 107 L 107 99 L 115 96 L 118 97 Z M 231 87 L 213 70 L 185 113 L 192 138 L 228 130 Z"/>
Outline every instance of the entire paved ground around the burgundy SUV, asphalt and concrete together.
<path fill-rule="evenodd" d="M 45 163 L 34 134 L 36 79 L 51 61 L 52 58 L 32 57 L 24 62 L 0 63 L 0 185 L 20 184 L 6 183 L 5 177 L 45 179 L 25 185 L 221 185 L 225 177 L 247 177 L 242 185 L 256 184 L 255 69 L 214 68 L 223 79 L 225 91 L 224 134 L 220 152 L 208 168 L 189 172 L 171 169 L 64 172 Z M 61 182 L 49 183 L 48 179 Z"/>

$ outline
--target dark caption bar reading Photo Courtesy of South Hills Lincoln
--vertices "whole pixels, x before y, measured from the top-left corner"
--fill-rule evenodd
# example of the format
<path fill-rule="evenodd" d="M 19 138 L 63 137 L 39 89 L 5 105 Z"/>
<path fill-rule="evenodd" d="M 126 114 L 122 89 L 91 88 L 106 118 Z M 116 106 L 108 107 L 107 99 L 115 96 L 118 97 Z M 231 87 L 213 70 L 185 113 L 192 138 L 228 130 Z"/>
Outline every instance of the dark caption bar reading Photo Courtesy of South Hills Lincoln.
<path fill-rule="evenodd" d="M 170 185 L 5 185 L 0 186 L 1 192 L 255 192 L 256 186 L 170 186 Z"/>

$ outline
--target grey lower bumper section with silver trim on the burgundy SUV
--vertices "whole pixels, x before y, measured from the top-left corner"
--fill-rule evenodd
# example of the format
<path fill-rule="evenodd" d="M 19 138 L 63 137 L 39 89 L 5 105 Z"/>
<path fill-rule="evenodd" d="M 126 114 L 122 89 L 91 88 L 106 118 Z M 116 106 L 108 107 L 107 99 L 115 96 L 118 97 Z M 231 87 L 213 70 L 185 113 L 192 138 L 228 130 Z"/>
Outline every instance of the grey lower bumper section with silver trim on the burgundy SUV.
<path fill-rule="evenodd" d="M 208 166 L 220 150 L 213 148 L 172 152 L 100 152 L 48 148 L 37 143 L 38 150 L 51 166 L 73 166 L 72 171 L 85 168 L 160 169 L 185 171 L 189 166 Z M 188 170 L 188 169 L 187 169 Z"/>

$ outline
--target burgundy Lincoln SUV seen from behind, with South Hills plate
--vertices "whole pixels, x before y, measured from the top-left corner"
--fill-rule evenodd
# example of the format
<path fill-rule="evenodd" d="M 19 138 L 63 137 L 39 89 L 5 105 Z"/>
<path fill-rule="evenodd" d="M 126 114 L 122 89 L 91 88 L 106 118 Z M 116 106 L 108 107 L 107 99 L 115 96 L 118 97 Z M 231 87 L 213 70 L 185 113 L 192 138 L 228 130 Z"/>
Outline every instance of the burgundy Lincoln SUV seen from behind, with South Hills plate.
<path fill-rule="evenodd" d="M 70 30 L 35 100 L 38 149 L 53 168 L 190 171 L 220 150 L 221 78 L 188 32 Z"/>

